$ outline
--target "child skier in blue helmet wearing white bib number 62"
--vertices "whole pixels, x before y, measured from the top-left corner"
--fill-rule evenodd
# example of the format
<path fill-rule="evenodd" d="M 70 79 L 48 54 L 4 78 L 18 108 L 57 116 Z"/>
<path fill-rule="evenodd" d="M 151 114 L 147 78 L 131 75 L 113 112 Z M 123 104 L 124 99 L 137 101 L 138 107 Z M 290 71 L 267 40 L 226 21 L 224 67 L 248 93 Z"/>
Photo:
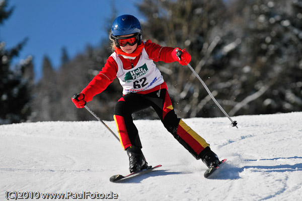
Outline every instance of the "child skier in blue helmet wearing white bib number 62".
<path fill-rule="evenodd" d="M 102 71 L 72 102 L 78 108 L 83 108 L 117 77 L 123 87 L 123 96 L 116 103 L 114 120 L 120 143 L 129 157 L 130 173 L 147 168 L 138 130 L 131 115 L 149 106 L 157 112 L 174 138 L 196 159 L 201 159 L 207 167 L 216 167 L 219 160 L 210 150 L 209 144 L 175 114 L 168 87 L 154 63 L 178 61 L 186 65 L 191 61 L 191 55 L 185 49 L 162 47 L 150 40 L 144 42 L 141 34 L 137 18 L 132 15 L 117 17 L 110 34 L 115 51 L 107 59 Z M 177 51 L 182 52 L 180 59 Z"/>

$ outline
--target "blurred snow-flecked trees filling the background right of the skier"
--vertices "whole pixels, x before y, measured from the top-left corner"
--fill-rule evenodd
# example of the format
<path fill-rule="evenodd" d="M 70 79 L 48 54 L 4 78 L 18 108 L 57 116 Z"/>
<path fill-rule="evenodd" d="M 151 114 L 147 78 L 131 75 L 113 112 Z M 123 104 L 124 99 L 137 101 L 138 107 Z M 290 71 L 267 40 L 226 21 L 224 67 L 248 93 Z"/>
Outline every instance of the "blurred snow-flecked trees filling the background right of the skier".
<path fill-rule="evenodd" d="M 150 1 L 143 36 L 186 47 L 191 65 L 230 115 L 300 111 L 301 0 Z M 223 116 L 192 73 L 159 63 L 181 117 Z M 184 113 L 181 113 L 183 111 Z"/>

